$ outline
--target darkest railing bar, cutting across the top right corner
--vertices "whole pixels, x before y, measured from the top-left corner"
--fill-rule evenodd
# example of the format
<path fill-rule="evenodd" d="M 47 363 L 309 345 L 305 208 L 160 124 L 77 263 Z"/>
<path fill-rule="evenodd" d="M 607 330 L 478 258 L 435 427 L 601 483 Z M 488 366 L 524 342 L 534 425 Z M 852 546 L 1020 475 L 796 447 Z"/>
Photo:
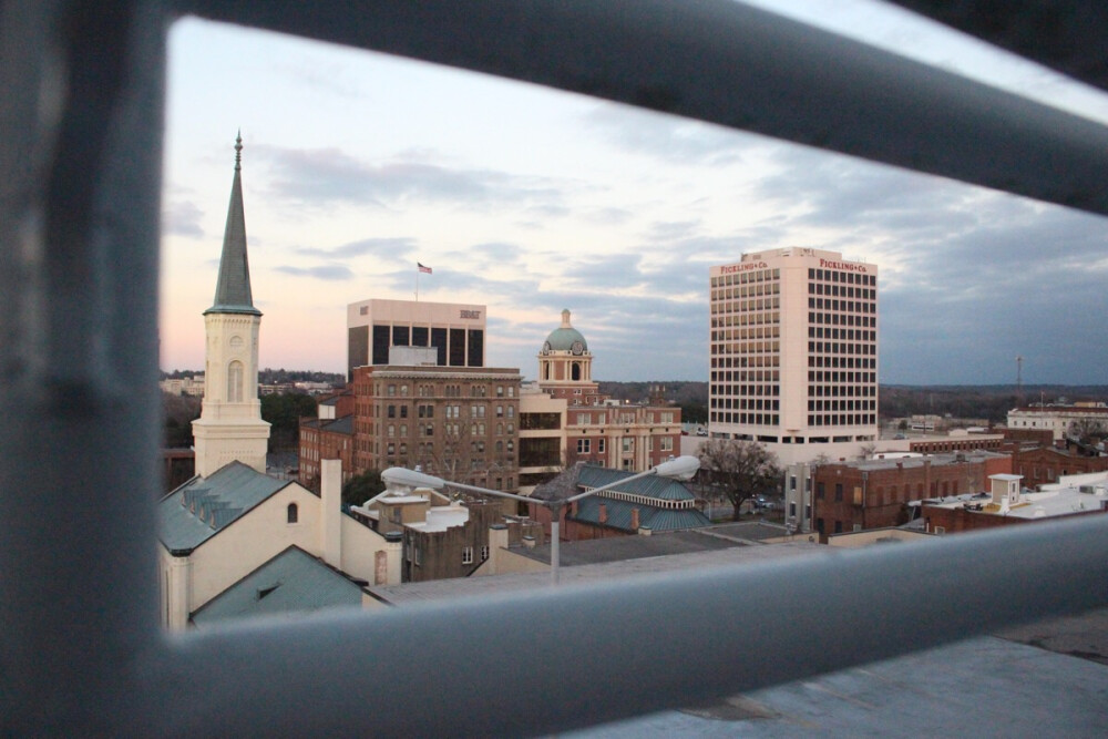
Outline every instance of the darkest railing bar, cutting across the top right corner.
<path fill-rule="evenodd" d="M 1108 4 L 1098 0 L 889 0 L 995 47 L 1108 90 Z M 1003 10 L 1005 12 L 998 12 Z"/>

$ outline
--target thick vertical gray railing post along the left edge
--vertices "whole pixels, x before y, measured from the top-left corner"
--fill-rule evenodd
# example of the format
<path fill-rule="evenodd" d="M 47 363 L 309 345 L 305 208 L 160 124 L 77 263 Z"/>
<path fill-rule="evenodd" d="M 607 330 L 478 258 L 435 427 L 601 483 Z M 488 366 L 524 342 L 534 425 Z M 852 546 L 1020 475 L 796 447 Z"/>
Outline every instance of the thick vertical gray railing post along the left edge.
<path fill-rule="evenodd" d="M 0 342 L 0 733 L 106 733 L 135 715 L 132 668 L 160 644 L 165 18 L 140 1 L 0 13 L 4 89 L 29 89 L 0 136 L 19 188 L 0 202 L 18 307 Z"/>

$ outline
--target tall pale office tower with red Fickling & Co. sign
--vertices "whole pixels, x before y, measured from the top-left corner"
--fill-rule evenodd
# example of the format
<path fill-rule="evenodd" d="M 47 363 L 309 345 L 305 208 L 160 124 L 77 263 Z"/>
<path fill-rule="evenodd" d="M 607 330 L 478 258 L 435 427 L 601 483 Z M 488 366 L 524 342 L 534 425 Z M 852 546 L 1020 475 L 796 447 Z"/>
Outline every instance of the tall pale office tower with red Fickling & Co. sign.
<path fill-rule="evenodd" d="M 878 438 L 878 267 L 784 248 L 710 268 L 711 437 L 784 464 Z"/>

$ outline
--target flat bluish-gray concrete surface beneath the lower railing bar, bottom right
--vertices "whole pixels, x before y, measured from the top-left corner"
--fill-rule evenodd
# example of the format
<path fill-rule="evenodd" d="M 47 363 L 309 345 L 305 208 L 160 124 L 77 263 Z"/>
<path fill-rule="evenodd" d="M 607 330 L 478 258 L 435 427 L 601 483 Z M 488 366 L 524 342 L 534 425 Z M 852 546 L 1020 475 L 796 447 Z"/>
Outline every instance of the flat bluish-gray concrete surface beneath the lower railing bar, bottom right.
<path fill-rule="evenodd" d="M 1106 706 L 1108 666 L 984 636 L 561 736 L 1104 737 Z"/>

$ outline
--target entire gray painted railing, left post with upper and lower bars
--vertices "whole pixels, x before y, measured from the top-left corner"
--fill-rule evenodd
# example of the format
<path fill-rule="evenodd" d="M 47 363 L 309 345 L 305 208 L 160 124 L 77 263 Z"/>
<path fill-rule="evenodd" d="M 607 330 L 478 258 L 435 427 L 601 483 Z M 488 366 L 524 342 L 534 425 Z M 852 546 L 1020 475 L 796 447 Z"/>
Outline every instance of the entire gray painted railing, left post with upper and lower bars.
<path fill-rule="evenodd" d="M 179 12 L 1108 213 L 1102 126 L 722 0 L 182 0 L 168 11 L 3 0 L 4 731 L 535 733 L 1108 602 L 1108 517 L 1090 516 L 648 582 L 163 634 L 152 515 L 158 185 L 165 30 Z M 667 638 L 677 622 L 755 615 L 765 625 L 755 643 L 731 628 L 710 648 Z"/>

